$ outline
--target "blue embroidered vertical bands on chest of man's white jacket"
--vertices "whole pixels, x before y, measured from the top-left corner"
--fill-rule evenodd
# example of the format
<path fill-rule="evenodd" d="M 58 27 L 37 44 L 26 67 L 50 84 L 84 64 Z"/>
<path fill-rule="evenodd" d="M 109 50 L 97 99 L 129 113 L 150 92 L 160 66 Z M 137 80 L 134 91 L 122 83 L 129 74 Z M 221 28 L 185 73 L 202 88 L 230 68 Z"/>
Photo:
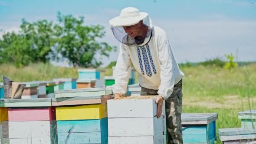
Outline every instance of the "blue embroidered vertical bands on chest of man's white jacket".
<path fill-rule="evenodd" d="M 142 74 L 143 75 L 145 74 L 144 67 L 145 67 L 145 70 L 146 70 L 146 74 L 149 77 L 152 76 L 152 69 L 153 69 L 154 74 L 156 74 L 157 71 L 155 69 L 155 64 L 154 64 L 154 61 L 152 59 L 152 55 L 151 55 L 151 52 L 150 52 L 150 49 L 149 49 L 149 45 L 146 45 L 145 47 L 144 46 L 137 47 L 137 51 L 138 51 L 138 57 L 139 57 L 139 66 L 140 66 Z M 143 67 L 143 63 L 142 63 L 141 52 L 142 52 L 142 57 L 143 57 L 143 61 L 144 61 L 144 67 Z M 152 69 L 151 69 L 149 63 L 151 64 Z"/>

